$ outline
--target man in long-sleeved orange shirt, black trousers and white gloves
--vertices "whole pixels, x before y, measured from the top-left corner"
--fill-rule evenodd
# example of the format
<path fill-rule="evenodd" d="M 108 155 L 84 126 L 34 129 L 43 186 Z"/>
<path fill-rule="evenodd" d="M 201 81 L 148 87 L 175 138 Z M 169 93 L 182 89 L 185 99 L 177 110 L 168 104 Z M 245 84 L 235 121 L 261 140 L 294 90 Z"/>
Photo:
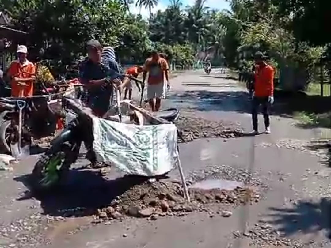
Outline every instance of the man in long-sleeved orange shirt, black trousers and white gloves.
<path fill-rule="evenodd" d="M 265 62 L 265 57 L 261 52 L 257 52 L 254 57 L 256 63 L 255 84 L 253 97 L 253 132 L 258 134 L 258 109 L 262 105 L 265 133 L 270 133 L 269 112 L 273 104 L 273 78 L 274 69 Z"/>

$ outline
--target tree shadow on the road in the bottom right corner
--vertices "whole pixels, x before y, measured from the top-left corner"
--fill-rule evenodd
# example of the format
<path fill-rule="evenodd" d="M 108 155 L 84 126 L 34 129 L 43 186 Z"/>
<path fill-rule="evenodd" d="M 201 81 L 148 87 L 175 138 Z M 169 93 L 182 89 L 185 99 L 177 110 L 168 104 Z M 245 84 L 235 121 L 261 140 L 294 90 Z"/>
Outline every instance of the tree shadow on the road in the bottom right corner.
<path fill-rule="evenodd" d="M 331 238 L 331 199 L 322 198 L 317 203 L 299 201 L 294 208 L 270 208 L 269 224 L 279 226 L 279 231 L 286 236 L 297 232 L 304 234 L 324 230 Z"/>

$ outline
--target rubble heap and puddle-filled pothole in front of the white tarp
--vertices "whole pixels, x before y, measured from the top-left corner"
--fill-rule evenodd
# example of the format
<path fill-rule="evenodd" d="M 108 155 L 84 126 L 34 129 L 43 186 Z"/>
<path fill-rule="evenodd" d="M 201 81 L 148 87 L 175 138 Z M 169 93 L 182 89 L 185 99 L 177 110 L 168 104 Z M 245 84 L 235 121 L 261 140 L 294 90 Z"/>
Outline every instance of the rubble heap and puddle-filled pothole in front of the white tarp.
<path fill-rule="evenodd" d="M 166 216 L 184 216 L 188 212 L 207 212 L 213 216 L 214 213 L 223 213 L 224 208 L 228 210 L 260 200 L 257 181 L 253 181 L 255 184 L 246 185 L 245 178 L 232 175 L 231 179 L 226 173 L 235 174 L 236 170 L 220 168 L 216 172 L 214 169 L 213 175 L 218 174 L 220 178 L 208 178 L 205 175 L 194 180 L 189 177 L 192 180 L 187 180 L 186 183 L 189 188 L 190 203 L 184 198 L 180 181 L 165 179 L 134 185 L 117 196 L 108 207 L 99 209 L 96 222 L 123 219 L 127 216 L 155 220 Z M 246 172 L 241 174 L 249 176 Z M 229 217 L 229 213 L 225 215 Z"/>

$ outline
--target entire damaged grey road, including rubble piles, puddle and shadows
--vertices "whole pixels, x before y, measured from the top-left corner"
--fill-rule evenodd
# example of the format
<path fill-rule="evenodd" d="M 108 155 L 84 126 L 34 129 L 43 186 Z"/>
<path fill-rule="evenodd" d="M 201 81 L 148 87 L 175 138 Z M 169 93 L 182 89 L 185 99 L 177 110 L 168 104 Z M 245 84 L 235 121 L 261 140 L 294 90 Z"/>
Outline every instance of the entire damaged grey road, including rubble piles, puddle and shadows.
<path fill-rule="evenodd" d="M 318 132 L 272 116 L 271 135 L 249 136 L 248 94 L 236 81 L 216 69 L 172 81 L 163 107 L 181 109 L 190 203 L 177 169 L 158 180 L 100 173 L 84 154 L 66 185 L 35 195 L 32 155 L 0 171 L 0 247 L 330 247 L 330 169 L 322 149 L 299 142 Z"/>

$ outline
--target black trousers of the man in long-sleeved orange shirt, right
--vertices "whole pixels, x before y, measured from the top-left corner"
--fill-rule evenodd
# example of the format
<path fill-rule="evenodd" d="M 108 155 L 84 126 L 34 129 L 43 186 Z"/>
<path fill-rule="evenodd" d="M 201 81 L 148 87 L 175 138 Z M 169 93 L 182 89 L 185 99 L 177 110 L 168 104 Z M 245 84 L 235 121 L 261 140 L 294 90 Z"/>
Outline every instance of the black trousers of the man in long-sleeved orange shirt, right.
<path fill-rule="evenodd" d="M 265 128 L 270 126 L 270 103 L 269 97 L 253 97 L 252 101 L 252 119 L 253 119 L 253 129 L 258 131 L 258 112 L 259 106 L 262 105 L 262 113 L 264 117 Z"/>

